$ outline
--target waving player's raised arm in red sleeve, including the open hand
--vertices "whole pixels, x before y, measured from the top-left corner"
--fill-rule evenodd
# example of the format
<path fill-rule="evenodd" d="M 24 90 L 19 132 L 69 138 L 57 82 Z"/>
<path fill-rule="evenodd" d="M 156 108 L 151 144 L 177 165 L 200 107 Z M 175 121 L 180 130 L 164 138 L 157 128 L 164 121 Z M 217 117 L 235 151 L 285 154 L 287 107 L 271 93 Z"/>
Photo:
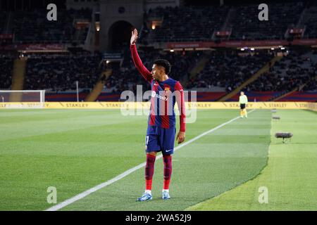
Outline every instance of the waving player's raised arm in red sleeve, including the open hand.
<path fill-rule="evenodd" d="M 130 50 L 133 63 L 135 63 L 135 67 L 141 75 L 146 79 L 148 82 L 151 82 L 151 72 L 147 70 L 147 68 L 143 65 L 142 60 L 139 58 L 139 54 L 137 53 L 137 46 L 135 43 L 137 42 L 137 29 L 132 31 L 131 41 L 130 41 Z"/>

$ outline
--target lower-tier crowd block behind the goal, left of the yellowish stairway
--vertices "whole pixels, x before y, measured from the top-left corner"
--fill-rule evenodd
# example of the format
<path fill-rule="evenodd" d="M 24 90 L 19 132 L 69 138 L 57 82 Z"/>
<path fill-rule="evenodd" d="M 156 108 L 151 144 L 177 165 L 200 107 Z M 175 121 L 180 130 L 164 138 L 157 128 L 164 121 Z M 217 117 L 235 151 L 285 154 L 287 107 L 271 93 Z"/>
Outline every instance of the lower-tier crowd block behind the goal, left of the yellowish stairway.
<path fill-rule="evenodd" d="M 25 89 L 49 89 L 51 91 L 75 90 L 75 82 L 81 88 L 92 88 L 99 78 L 101 56 L 32 56 L 27 60 Z"/>

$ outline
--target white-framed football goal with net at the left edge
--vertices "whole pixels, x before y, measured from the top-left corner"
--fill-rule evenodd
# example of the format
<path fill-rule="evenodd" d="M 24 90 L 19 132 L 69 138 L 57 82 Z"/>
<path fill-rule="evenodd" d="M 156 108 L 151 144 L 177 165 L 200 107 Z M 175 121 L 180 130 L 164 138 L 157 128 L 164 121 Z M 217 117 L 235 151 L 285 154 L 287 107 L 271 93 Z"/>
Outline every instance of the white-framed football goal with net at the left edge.
<path fill-rule="evenodd" d="M 44 108 L 45 90 L 0 90 L 0 96 L 4 108 Z"/>

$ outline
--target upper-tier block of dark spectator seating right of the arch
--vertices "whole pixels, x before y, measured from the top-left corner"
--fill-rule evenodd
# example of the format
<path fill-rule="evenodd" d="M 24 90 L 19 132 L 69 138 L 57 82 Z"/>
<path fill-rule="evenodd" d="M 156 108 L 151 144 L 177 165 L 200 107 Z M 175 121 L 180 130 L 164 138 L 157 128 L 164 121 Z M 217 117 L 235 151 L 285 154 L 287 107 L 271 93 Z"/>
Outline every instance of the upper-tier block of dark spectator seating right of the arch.
<path fill-rule="evenodd" d="M 259 21 L 258 5 L 242 6 L 181 6 L 158 7 L 147 13 L 147 18 L 156 18 L 162 22 L 155 27 L 144 23 L 142 43 L 155 41 L 211 41 L 214 31 L 232 30 L 231 40 L 285 39 L 288 27 L 299 22 L 305 4 L 302 1 L 288 4 L 268 4 L 270 20 Z M 308 33 L 316 31 L 316 9 L 307 12 L 309 18 Z M 310 15 L 313 15 L 311 18 Z M 225 19 L 228 17 L 228 21 Z M 311 34 L 311 35 L 312 35 Z M 310 37 L 311 37 L 310 35 Z"/>

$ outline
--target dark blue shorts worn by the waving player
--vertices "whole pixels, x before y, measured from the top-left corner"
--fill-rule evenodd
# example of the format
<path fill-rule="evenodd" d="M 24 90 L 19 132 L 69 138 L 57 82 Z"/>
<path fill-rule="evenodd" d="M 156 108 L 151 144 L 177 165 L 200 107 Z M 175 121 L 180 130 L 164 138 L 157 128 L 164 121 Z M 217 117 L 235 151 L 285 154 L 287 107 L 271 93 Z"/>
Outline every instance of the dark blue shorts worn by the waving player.
<path fill-rule="evenodd" d="M 174 153 L 176 127 L 169 129 L 149 126 L 147 127 L 147 136 L 145 137 L 145 151 L 160 152 L 163 155 Z"/>

